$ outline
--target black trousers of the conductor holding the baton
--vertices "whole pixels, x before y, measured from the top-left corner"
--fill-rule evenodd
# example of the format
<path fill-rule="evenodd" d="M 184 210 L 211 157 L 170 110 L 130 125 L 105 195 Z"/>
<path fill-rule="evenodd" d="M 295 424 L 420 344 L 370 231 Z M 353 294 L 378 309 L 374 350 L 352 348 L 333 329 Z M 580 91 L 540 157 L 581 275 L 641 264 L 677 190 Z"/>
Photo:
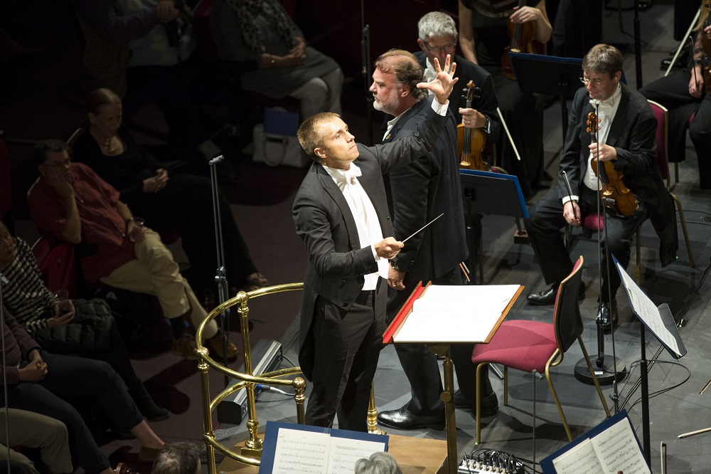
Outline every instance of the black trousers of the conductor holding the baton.
<path fill-rule="evenodd" d="M 385 332 L 385 283 L 361 292 L 350 310 L 316 299 L 314 388 L 306 424 L 368 431 L 368 402 Z"/>

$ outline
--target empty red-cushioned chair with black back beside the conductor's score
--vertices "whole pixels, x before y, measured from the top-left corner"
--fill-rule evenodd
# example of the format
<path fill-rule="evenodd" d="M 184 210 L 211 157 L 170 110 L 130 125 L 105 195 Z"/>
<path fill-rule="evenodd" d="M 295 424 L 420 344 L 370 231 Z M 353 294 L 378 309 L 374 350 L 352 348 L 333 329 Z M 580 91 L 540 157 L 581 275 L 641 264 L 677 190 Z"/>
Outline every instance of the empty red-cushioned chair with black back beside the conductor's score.
<path fill-rule="evenodd" d="M 545 374 L 550 393 L 553 396 L 558 414 L 563 421 L 568 441 L 572 441 L 570 427 L 563 414 L 560 400 L 553 386 L 550 368 L 563 362 L 563 355 L 577 341 L 590 369 L 592 381 L 602 401 L 606 416 L 610 416 L 602 389 L 595 376 L 595 370 L 582 342 L 583 324 L 578 306 L 578 290 L 582 280 L 583 258 L 580 256 L 570 275 L 560 283 L 553 308 L 553 322 L 528 320 L 504 321 L 488 344 L 476 344 L 471 354 L 471 362 L 476 365 L 476 386 L 481 387 L 481 369 L 485 364 L 502 364 L 503 404 L 508 406 L 508 368 Z M 535 400 L 533 401 L 535 403 Z M 481 441 L 481 393 L 476 394 L 476 443 Z"/>

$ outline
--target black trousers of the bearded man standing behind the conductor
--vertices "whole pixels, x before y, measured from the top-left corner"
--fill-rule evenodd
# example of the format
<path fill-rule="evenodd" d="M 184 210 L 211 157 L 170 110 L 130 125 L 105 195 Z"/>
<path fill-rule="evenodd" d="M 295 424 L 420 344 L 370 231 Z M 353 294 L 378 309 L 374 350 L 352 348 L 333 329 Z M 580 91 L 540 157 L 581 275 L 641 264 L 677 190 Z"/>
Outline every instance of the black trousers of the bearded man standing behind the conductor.
<path fill-rule="evenodd" d="M 419 280 L 405 280 L 403 283 L 405 290 L 387 289 L 388 323 L 395 318 L 397 312 L 405 304 L 407 297 L 417 287 Z M 462 283 L 459 267 L 432 280 L 433 285 L 461 285 Z M 474 403 L 476 400 L 476 366 L 471 363 L 474 344 L 451 344 L 450 350 L 459 391 Z M 407 380 L 410 381 L 412 398 L 406 405 L 407 410 L 418 415 L 443 413 L 444 404 L 439 399 L 439 394 L 442 393 L 442 377 L 439 375 L 437 355 L 429 350 L 427 344 L 395 344 L 395 351 L 400 359 L 400 364 L 402 364 L 402 369 L 407 375 Z M 486 381 L 486 389 L 482 391 L 482 394 L 486 395 L 491 392 L 491 385 L 488 382 L 488 368 L 484 371 L 483 380 Z"/>

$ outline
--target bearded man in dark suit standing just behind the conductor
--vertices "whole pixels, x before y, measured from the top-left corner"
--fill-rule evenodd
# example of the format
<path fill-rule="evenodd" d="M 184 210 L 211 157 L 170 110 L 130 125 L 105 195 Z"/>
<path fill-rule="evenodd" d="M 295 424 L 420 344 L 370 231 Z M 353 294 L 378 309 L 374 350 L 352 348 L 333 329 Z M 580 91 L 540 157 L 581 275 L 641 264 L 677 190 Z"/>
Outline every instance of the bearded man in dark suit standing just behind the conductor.
<path fill-rule="evenodd" d="M 427 91 L 415 85 L 422 67 L 415 56 L 391 50 L 375 60 L 373 106 L 387 115 L 383 143 L 397 143 L 414 135 L 432 106 Z M 412 290 L 422 281 L 434 285 L 461 285 L 459 263 L 466 259 L 464 207 L 459 186 L 459 157 L 456 150 L 456 123 L 447 113 L 447 125 L 429 152 L 388 174 L 389 202 L 395 236 L 405 238 L 432 221 L 424 231 L 410 238 L 400 253 L 390 259 L 387 283 L 387 319 L 392 320 Z M 440 216 L 440 214 L 443 214 Z M 440 216 L 440 217 L 438 217 Z M 437 322 L 433 322 L 437 324 Z M 439 399 L 442 379 L 437 356 L 427 344 L 396 344 L 397 356 L 412 387 L 412 398 L 402 408 L 381 411 L 378 422 L 397 429 L 442 428 L 444 404 Z M 459 381 L 455 403 L 474 410 L 476 367 L 471 363 L 473 344 L 453 344 L 454 367 Z M 485 374 L 488 375 L 488 374 Z M 483 390 L 484 409 L 496 413 L 498 401 L 488 384 Z M 488 413 L 488 414 L 493 414 Z"/>

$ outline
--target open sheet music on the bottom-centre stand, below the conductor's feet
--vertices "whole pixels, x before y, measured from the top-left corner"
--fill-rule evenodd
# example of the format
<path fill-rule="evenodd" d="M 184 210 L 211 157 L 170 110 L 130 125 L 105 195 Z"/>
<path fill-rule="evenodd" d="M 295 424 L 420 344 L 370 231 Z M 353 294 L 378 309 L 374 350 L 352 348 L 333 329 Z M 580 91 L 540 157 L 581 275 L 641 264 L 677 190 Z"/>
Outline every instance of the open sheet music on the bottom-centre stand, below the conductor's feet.
<path fill-rule="evenodd" d="M 353 473 L 355 461 L 385 451 L 385 443 L 279 428 L 272 473 Z"/>

